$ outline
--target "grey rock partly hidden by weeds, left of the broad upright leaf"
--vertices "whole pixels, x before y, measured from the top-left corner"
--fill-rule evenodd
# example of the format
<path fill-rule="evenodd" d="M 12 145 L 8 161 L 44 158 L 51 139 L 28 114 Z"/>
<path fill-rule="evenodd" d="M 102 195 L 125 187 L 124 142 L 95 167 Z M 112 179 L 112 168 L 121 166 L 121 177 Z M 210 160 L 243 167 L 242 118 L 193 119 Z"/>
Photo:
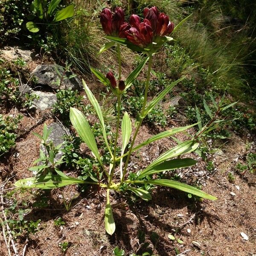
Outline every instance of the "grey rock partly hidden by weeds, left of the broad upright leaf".
<path fill-rule="evenodd" d="M 63 139 L 64 135 L 70 136 L 70 131 L 66 127 L 64 127 L 64 125 L 61 125 L 60 123 L 53 122 L 50 125 L 48 125 L 47 128 L 52 129 L 52 132 L 49 134 L 49 137 L 48 137 L 47 141 L 52 140 L 55 147 L 64 143 L 64 141 L 65 141 Z M 41 145 L 40 148 L 44 153 L 46 153 L 45 148 L 44 148 L 43 145 Z M 63 149 L 63 148 L 64 148 L 64 146 L 62 145 L 61 148 L 58 151 L 58 154 L 56 154 L 56 156 L 54 158 L 55 162 L 60 160 L 61 157 L 63 156 L 64 153 L 61 151 L 61 149 Z"/>

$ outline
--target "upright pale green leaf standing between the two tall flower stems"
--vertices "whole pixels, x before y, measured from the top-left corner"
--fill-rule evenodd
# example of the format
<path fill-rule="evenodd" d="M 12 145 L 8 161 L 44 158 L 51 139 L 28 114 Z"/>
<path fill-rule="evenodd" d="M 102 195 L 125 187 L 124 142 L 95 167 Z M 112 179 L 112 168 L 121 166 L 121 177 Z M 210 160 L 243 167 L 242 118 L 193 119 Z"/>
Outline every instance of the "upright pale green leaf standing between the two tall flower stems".
<path fill-rule="evenodd" d="M 131 137 L 131 119 L 127 112 L 125 112 L 123 119 L 122 119 L 122 155 L 125 152 L 125 148 L 130 140 Z M 120 160 L 120 177 L 122 179 L 122 158 Z"/>

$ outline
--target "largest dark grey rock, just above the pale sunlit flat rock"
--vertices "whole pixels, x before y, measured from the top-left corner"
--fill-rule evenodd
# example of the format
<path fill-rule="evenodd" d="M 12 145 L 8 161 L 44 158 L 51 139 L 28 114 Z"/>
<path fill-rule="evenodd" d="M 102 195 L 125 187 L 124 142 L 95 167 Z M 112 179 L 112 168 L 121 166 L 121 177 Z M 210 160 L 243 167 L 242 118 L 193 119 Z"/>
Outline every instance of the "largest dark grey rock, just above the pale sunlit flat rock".
<path fill-rule="evenodd" d="M 62 79 L 62 76 L 71 76 L 72 72 L 64 73 L 64 67 L 57 64 L 42 64 L 33 70 L 32 74 L 38 79 L 38 84 L 47 85 L 53 89 L 81 89 L 81 81 L 77 77 Z M 57 84 L 61 81 L 61 85 Z"/>

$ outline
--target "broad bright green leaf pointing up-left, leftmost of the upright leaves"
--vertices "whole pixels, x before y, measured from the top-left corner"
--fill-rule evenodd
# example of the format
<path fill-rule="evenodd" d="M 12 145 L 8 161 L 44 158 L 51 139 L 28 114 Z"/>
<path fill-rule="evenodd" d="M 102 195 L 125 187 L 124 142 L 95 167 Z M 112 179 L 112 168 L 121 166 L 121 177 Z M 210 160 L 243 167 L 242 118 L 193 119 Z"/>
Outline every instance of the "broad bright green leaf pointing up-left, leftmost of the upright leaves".
<path fill-rule="evenodd" d="M 93 136 L 93 132 L 85 116 L 76 108 L 70 108 L 70 121 L 81 139 L 87 144 L 90 150 L 93 152 L 99 163 L 102 163 L 99 151 L 96 145 L 96 140 Z"/>

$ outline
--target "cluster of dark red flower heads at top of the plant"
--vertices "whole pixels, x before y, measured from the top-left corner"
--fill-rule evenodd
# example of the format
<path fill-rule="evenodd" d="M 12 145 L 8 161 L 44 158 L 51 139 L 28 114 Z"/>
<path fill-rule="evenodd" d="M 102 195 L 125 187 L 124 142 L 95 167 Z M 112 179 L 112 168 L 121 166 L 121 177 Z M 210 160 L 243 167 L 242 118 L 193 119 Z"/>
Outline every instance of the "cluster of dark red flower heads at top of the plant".
<path fill-rule="evenodd" d="M 127 38 L 131 43 L 146 47 L 157 37 L 163 37 L 172 33 L 174 23 L 163 12 L 158 12 L 157 7 L 145 8 L 143 21 L 138 15 L 131 15 L 129 23 L 125 23 L 124 12 L 116 8 L 114 14 L 106 8 L 100 15 L 102 28 L 107 35 Z"/>

